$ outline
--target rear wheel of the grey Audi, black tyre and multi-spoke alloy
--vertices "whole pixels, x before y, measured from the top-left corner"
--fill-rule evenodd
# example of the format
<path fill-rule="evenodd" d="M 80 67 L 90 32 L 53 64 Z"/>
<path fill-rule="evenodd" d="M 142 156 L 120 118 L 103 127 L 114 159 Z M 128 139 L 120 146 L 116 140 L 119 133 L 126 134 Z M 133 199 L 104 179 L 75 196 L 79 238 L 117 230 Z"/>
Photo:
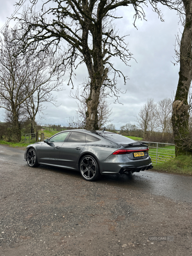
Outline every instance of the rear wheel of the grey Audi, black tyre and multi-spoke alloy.
<path fill-rule="evenodd" d="M 85 180 L 93 181 L 100 178 L 99 164 L 95 157 L 91 155 L 86 155 L 81 159 L 79 171 Z"/>

